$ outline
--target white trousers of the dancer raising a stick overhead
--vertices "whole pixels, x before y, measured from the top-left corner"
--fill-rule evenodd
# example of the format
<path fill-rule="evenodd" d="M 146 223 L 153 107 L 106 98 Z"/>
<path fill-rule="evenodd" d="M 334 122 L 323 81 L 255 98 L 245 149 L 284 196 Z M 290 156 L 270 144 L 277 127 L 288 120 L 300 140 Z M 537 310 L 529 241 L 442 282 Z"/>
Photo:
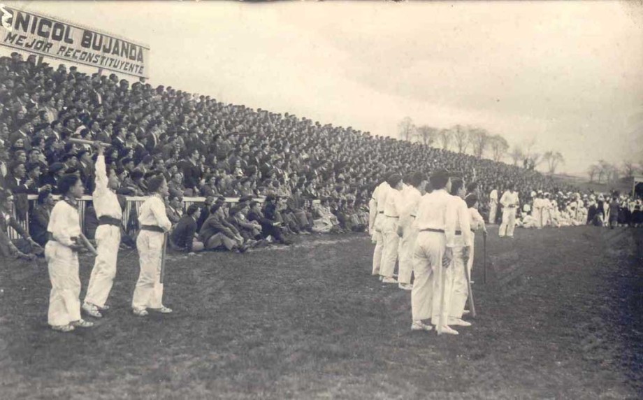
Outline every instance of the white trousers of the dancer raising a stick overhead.
<path fill-rule="evenodd" d="M 95 306 L 103 307 L 112 290 L 116 276 L 116 260 L 120 246 L 120 227 L 114 225 L 99 225 L 96 228 L 96 251 L 99 255 L 94 261 L 92 275 L 85 301 Z"/>

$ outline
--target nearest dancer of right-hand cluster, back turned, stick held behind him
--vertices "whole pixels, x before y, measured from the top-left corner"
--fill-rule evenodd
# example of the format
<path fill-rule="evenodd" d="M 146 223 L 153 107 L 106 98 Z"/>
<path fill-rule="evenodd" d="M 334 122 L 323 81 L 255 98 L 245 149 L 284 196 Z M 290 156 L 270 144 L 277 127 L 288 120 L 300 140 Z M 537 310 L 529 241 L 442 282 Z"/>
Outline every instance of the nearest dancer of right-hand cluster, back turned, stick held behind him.
<path fill-rule="evenodd" d="M 412 331 L 431 331 L 433 327 L 423 320 L 431 319 L 433 324 L 437 324 L 440 315 L 434 309 L 439 310 L 441 305 L 442 312 L 446 314 L 448 305 L 445 304 L 445 294 L 451 297 L 451 285 L 441 292 L 440 285 L 435 284 L 436 280 L 440 282 L 443 273 L 446 283 L 451 282 L 453 275 L 453 268 L 445 269 L 443 265 L 448 265 L 452 257 L 452 250 L 447 250 L 447 232 L 452 243 L 456 231 L 455 220 L 447 219 L 447 208 L 454 203 L 448 192 L 451 190 L 451 180 L 447 171 L 438 170 L 431 175 L 430 182 L 433 192 L 421 197 L 415 214 L 418 234 L 413 252 Z M 438 326 L 439 333 L 458 334 L 446 325 L 445 320 L 442 322 L 442 326 Z"/>

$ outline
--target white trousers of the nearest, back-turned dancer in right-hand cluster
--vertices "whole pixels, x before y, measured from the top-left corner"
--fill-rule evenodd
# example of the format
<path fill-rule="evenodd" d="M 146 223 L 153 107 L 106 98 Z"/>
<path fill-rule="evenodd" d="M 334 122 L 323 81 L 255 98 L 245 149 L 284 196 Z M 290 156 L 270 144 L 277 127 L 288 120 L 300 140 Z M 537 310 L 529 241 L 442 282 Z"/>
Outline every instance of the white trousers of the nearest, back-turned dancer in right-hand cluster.
<path fill-rule="evenodd" d="M 445 255 L 445 234 L 439 232 L 419 232 L 413 250 L 413 273 L 415 280 L 411 291 L 411 314 L 413 321 L 432 318 L 439 310 L 440 287 L 438 280 L 442 274 L 442 257 Z M 450 290 L 449 292 L 450 293 Z M 445 308 L 447 311 L 448 308 Z M 438 322 L 439 313 L 435 313 Z"/>

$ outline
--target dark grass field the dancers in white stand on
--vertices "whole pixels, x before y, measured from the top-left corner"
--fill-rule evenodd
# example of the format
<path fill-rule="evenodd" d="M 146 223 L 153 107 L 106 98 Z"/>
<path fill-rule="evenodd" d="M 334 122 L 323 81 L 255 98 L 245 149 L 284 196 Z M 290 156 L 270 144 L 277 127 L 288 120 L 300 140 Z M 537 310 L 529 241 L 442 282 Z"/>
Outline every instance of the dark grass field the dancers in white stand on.
<path fill-rule="evenodd" d="M 365 235 L 173 256 L 175 313 L 146 318 L 121 252 L 112 309 L 72 334 L 46 325 L 46 268 L 3 261 L 0 399 L 642 397 L 643 229 L 494 231 L 479 316 L 448 337 L 410 331 L 410 293 L 370 276 Z"/>

